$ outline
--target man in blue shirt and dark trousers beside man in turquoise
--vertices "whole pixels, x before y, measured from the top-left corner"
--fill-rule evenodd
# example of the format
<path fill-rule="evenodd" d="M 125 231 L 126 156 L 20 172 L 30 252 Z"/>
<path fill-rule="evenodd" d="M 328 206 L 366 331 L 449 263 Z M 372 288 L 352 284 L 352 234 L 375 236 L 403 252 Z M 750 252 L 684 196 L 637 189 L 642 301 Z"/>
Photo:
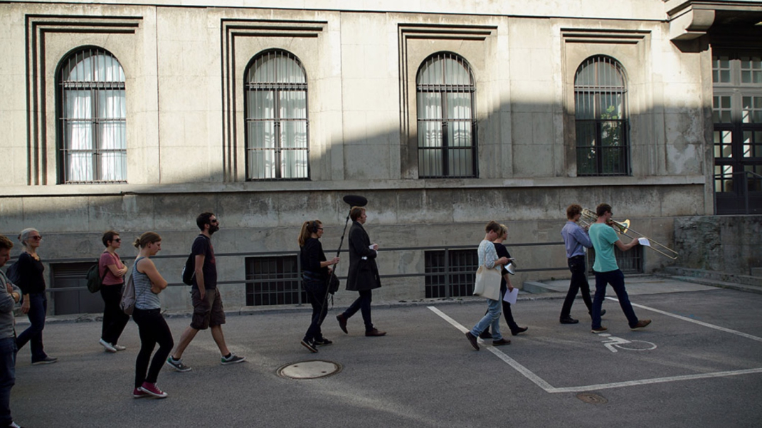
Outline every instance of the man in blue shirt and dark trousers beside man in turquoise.
<path fill-rule="evenodd" d="M 579 218 L 582 215 L 582 207 L 578 204 L 571 204 L 566 208 L 567 222 L 561 230 L 561 236 L 566 244 L 566 258 L 568 259 L 569 271 L 571 271 L 571 282 L 569 291 L 566 293 L 564 305 L 561 307 L 560 322 L 562 324 L 576 324 L 579 320 L 571 317 L 571 305 L 577 298 L 578 291 L 582 291 L 582 300 L 588 307 L 588 314 L 593 313 L 593 302 L 590 298 L 590 285 L 588 284 L 588 273 L 585 272 L 587 265 L 584 262 L 584 249 L 592 248 L 588 231 L 579 225 Z M 606 311 L 600 311 L 603 316 Z"/>

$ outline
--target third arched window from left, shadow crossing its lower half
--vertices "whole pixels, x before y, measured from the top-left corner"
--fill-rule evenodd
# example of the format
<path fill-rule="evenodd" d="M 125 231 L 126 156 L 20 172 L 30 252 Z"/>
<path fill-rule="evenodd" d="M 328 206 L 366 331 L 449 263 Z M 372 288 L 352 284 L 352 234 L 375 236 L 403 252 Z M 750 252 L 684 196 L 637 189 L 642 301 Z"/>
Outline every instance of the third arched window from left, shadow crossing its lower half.
<path fill-rule="evenodd" d="M 476 85 L 454 53 L 435 53 L 418 69 L 418 176 L 475 177 Z"/>

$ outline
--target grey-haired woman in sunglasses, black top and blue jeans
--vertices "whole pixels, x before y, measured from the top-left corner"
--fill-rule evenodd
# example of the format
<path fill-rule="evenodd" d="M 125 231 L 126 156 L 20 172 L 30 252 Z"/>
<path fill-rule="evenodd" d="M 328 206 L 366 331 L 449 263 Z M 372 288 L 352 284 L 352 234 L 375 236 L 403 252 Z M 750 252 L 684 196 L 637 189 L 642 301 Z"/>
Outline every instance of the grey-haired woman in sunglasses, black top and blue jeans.
<path fill-rule="evenodd" d="M 58 359 L 48 356 L 43 349 L 43 328 L 45 328 L 45 314 L 47 314 L 47 298 L 45 295 L 45 266 L 37 255 L 37 248 L 43 239 L 37 229 L 27 228 L 21 230 L 18 240 L 24 246 L 18 256 L 16 272 L 18 272 L 18 288 L 24 294 L 24 303 L 21 304 L 21 312 L 29 317 L 30 326 L 18 335 L 16 346 L 24 347 L 27 342 L 32 349 L 32 364 L 50 364 Z"/>

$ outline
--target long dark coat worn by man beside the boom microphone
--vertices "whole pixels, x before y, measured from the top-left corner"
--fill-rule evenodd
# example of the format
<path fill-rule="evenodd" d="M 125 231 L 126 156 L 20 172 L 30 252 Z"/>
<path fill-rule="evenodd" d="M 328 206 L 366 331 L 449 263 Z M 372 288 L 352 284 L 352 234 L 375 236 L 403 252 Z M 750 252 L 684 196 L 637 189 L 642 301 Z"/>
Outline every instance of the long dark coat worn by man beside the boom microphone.
<path fill-rule="evenodd" d="M 373 290 L 381 286 L 379 268 L 376 265 L 376 252 L 370 249 L 370 237 L 363 225 L 352 222 L 349 228 L 349 275 L 348 291 Z M 363 257 L 367 257 L 363 260 Z"/>

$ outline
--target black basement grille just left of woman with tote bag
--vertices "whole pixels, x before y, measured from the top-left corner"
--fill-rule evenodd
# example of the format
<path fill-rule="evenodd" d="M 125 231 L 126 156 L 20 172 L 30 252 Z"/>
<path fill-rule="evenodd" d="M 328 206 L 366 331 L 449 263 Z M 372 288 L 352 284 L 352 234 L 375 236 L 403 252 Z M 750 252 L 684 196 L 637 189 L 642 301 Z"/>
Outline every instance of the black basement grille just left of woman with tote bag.
<path fill-rule="evenodd" d="M 476 249 L 425 251 L 424 265 L 427 298 L 454 298 L 473 294 L 476 269 L 479 268 Z"/>

